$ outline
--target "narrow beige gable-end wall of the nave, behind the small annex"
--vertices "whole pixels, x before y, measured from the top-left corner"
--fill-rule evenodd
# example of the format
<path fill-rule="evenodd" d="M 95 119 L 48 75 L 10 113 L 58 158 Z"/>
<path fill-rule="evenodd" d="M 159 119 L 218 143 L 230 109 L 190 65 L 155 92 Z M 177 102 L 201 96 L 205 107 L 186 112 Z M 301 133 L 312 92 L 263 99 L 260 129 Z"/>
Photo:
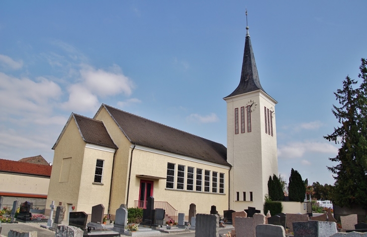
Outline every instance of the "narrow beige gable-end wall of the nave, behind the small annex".
<path fill-rule="evenodd" d="M 116 214 L 116 210 L 120 207 L 120 205 L 126 203 L 131 143 L 125 137 L 124 133 L 116 125 L 115 121 L 104 107 L 99 110 L 95 116 L 95 119 L 103 121 L 109 135 L 119 148 L 115 155 L 115 171 L 110 204 L 110 213 L 114 215 Z"/>

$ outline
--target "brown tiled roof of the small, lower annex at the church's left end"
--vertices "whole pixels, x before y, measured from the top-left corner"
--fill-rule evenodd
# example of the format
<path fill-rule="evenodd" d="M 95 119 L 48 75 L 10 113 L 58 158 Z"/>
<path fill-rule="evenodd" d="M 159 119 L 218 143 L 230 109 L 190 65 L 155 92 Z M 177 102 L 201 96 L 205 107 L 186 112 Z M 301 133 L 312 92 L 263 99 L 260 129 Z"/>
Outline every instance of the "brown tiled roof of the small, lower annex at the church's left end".
<path fill-rule="evenodd" d="M 118 149 L 102 121 L 94 120 L 75 113 L 72 115 L 74 116 L 80 134 L 86 143 Z"/>

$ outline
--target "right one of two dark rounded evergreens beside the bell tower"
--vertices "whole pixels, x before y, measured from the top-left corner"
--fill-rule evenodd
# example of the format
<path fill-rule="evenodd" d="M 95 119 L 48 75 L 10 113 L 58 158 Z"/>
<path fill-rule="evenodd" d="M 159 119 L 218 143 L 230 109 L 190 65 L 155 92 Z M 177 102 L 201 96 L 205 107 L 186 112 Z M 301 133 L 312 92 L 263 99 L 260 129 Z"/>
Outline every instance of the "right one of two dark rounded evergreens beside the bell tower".
<path fill-rule="evenodd" d="M 292 168 L 291 176 L 289 177 L 289 200 L 296 202 L 303 202 L 306 195 L 305 182 L 297 170 Z"/>

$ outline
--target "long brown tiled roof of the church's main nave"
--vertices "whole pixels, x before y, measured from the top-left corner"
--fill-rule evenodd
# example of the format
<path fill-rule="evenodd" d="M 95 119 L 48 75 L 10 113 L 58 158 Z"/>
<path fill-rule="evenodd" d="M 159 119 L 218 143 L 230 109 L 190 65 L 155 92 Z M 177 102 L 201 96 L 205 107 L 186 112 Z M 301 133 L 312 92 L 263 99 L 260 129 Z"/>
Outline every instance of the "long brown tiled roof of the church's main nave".
<path fill-rule="evenodd" d="M 106 104 L 103 106 L 133 144 L 231 166 L 227 162 L 227 148 L 222 144 L 173 129 Z"/>

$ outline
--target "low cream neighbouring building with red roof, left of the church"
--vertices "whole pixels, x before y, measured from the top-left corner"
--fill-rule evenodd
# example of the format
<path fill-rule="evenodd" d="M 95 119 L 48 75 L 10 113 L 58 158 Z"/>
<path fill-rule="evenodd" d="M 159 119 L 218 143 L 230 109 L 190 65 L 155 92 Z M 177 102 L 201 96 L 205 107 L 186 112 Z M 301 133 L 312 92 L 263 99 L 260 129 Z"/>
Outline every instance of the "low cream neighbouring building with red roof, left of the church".
<path fill-rule="evenodd" d="M 33 202 L 44 209 L 52 166 L 0 159 L 0 208 L 13 202 Z"/>

